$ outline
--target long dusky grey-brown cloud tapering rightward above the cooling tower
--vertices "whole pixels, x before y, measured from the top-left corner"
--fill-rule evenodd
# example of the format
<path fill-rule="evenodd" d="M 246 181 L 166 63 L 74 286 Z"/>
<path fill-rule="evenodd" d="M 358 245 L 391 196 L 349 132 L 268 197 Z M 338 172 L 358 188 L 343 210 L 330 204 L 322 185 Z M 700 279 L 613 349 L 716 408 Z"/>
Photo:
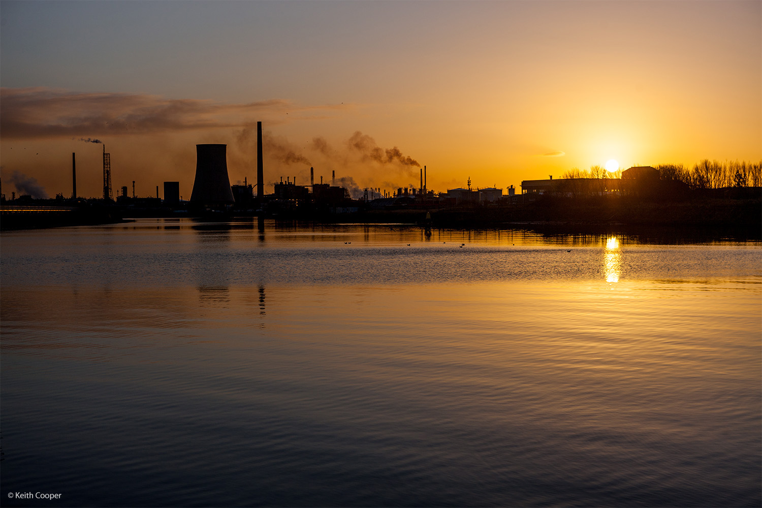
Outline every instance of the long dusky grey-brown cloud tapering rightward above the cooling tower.
<path fill-rule="evenodd" d="M 301 107 L 283 99 L 222 104 L 149 94 L 2 88 L 0 132 L 6 139 L 180 132 L 241 127 L 265 114 L 285 116 L 290 113 L 293 117 L 295 113 L 349 108 L 351 105 L 344 104 Z"/>

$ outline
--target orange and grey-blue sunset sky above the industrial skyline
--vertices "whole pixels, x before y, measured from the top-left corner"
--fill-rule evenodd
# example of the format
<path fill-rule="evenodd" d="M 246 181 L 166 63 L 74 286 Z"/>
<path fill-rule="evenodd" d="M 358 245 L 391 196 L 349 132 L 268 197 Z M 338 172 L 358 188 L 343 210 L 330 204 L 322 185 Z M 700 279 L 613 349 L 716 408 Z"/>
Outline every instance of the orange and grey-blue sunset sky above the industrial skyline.
<path fill-rule="evenodd" d="M 2 192 L 520 187 L 762 160 L 762 2 L 0 2 Z M 88 141 L 89 140 L 89 141 Z M 97 140 L 99 142 L 93 142 Z"/>

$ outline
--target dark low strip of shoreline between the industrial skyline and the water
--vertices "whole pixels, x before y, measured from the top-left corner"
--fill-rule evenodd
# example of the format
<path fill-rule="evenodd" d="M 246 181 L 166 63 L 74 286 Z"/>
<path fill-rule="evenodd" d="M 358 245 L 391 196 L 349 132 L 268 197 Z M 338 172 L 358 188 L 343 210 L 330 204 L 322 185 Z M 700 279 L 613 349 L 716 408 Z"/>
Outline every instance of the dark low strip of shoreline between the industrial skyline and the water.
<path fill-rule="evenodd" d="M 126 209 L 120 206 L 87 206 L 66 212 L 10 213 L 3 209 L 3 231 L 98 225 L 124 222 L 131 218 L 192 217 L 171 209 Z M 616 197 L 568 199 L 539 196 L 520 205 L 409 207 L 360 209 L 346 214 L 301 213 L 257 214 L 235 212 L 213 220 L 274 219 L 277 222 L 314 224 L 415 224 L 427 229 L 528 229 L 543 235 L 620 234 L 653 238 L 706 238 L 707 241 L 735 239 L 762 240 L 762 196 L 696 195 L 677 202 L 626 200 Z M 210 219 L 200 217 L 200 220 Z"/>

